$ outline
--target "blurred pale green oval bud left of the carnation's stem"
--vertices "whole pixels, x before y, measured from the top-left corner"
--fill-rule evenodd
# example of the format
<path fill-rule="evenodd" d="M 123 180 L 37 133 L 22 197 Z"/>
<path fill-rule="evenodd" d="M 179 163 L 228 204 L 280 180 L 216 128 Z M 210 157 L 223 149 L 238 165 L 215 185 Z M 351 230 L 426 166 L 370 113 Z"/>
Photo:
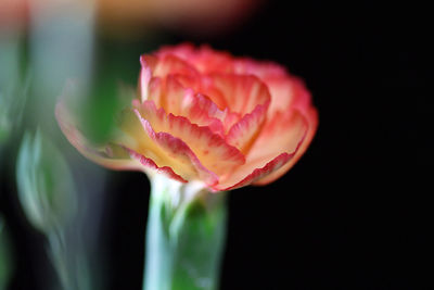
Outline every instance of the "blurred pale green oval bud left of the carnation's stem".
<path fill-rule="evenodd" d="M 61 152 L 42 136 L 26 133 L 16 165 L 18 197 L 30 223 L 43 232 L 64 226 L 76 210 L 69 167 Z"/>

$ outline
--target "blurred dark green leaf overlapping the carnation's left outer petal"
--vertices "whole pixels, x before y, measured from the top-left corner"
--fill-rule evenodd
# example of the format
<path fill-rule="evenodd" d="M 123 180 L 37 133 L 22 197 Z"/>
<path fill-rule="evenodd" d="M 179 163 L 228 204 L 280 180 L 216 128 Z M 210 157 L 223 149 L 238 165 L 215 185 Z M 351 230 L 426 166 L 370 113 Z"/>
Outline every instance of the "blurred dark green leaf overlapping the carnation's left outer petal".
<path fill-rule="evenodd" d="M 136 90 L 130 88 L 137 86 L 139 58 L 148 45 L 104 38 L 97 43 L 90 93 L 77 112 L 85 135 L 94 143 L 103 143 L 111 137 L 116 115 L 136 97 Z"/>

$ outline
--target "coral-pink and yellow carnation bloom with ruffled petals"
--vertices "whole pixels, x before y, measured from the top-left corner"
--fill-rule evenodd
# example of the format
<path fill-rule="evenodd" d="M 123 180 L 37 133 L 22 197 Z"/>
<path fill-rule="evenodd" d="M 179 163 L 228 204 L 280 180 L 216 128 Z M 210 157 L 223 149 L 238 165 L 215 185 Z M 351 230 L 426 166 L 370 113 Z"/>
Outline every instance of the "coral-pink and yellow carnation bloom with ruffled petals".
<path fill-rule="evenodd" d="M 310 93 L 278 64 L 190 45 L 165 47 L 140 62 L 138 96 L 106 144 L 91 144 L 64 102 L 58 105 L 68 140 L 103 166 L 229 190 L 276 180 L 314 138 Z"/>

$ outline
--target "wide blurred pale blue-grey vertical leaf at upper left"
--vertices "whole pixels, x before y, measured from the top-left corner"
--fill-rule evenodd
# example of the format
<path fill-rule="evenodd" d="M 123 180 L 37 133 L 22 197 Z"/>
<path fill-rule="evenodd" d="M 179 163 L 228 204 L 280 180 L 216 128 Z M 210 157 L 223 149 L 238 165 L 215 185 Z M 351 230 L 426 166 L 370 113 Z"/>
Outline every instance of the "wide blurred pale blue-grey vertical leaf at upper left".
<path fill-rule="evenodd" d="M 92 81 L 93 1 L 30 1 L 28 56 L 33 72 L 28 119 L 54 133 L 54 108 L 68 79 L 77 79 L 79 94 Z"/>

